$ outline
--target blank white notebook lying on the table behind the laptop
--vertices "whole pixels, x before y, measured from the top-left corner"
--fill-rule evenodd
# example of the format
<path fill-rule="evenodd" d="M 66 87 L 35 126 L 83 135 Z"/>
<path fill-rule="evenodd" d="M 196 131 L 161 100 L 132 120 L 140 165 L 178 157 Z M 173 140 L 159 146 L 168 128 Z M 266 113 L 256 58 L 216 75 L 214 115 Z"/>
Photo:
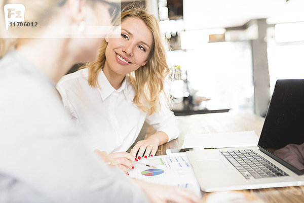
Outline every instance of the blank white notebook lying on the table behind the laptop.
<path fill-rule="evenodd" d="M 257 142 L 258 137 L 254 133 L 254 131 L 234 133 L 187 134 L 185 135 L 182 148 L 224 148 L 257 146 Z"/>

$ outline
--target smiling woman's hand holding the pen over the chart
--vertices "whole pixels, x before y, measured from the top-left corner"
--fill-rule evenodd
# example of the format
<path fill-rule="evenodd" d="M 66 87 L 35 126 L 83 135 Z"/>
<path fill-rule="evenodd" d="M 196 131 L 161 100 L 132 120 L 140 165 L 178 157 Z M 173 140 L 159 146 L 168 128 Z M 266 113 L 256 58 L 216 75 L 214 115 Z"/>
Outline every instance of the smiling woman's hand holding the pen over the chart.
<path fill-rule="evenodd" d="M 96 152 L 109 166 L 116 166 L 123 172 L 128 174 L 129 169 L 134 169 L 132 161 L 137 161 L 135 156 L 127 152 L 116 152 L 107 154 L 104 151 L 95 150 Z M 129 175 L 129 174 L 128 174 Z"/>

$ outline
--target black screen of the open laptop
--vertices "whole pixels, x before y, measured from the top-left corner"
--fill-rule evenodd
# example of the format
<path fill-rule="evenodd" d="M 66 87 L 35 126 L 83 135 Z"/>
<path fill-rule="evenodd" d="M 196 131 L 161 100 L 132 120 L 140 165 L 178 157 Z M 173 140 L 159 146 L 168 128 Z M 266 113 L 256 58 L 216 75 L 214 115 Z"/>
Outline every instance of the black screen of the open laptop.
<path fill-rule="evenodd" d="M 304 172 L 304 79 L 277 80 L 258 146 Z"/>

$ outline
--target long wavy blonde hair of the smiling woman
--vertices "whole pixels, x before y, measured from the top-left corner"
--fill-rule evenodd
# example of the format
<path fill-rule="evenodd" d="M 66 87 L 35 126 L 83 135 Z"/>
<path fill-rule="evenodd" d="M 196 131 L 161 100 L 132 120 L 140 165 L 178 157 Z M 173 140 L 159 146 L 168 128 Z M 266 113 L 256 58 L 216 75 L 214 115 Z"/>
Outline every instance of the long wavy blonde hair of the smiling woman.
<path fill-rule="evenodd" d="M 121 18 L 116 19 L 114 24 L 123 22 L 124 19 L 133 17 L 141 19 L 151 30 L 154 37 L 153 48 L 151 49 L 146 65 L 127 74 L 127 77 L 135 91 L 133 102 L 144 112 L 153 114 L 159 112 L 161 103 L 169 103 L 169 94 L 165 89 L 165 83 L 173 75 L 172 69 L 166 62 L 167 43 L 161 34 L 157 19 L 140 8 L 131 8 L 121 13 Z M 105 63 L 105 50 L 107 43 L 103 40 L 98 51 L 98 58 L 92 63 L 81 68 L 88 68 L 88 83 L 91 87 L 101 88 L 98 84 L 98 73 Z"/>

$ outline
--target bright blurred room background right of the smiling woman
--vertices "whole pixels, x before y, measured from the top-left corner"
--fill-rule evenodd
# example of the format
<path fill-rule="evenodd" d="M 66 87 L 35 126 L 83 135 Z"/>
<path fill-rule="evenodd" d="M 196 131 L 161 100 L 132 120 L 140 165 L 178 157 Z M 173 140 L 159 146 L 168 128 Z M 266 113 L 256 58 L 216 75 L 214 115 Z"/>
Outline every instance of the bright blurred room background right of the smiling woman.
<path fill-rule="evenodd" d="M 265 116 L 277 79 L 304 78 L 303 0 L 122 0 L 146 6 L 169 40 L 176 115 Z"/>

